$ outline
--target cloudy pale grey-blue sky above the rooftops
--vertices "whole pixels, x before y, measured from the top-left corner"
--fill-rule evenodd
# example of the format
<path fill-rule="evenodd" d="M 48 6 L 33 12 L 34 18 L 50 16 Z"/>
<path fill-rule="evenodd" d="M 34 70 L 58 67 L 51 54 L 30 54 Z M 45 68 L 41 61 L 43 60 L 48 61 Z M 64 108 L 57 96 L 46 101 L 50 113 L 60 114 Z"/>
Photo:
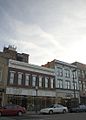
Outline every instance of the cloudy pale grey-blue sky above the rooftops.
<path fill-rule="evenodd" d="M 8 45 L 35 65 L 86 64 L 86 0 L 0 0 L 0 51 Z"/>

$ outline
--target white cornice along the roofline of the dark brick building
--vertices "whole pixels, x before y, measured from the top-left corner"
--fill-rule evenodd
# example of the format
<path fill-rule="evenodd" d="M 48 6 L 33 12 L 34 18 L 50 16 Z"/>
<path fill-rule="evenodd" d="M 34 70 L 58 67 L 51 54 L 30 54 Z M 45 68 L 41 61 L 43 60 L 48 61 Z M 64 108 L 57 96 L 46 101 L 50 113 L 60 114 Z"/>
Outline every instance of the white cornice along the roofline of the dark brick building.
<path fill-rule="evenodd" d="M 19 62 L 15 60 L 9 60 L 9 67 L 21 70 L 27 70 L 32 72 L 38 72 L 43 74 L 55 75 L 54 69 L 45 68 L 37 65 L 32 65 L 24 62 Z"/>

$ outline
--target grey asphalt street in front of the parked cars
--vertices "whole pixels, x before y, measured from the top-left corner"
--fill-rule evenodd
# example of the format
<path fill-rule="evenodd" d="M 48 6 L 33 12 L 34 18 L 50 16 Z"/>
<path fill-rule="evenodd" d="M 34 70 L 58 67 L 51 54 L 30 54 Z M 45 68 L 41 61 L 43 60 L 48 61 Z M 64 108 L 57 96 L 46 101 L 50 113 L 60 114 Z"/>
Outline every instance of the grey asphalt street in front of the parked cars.
<path fill-rule="evenodd" d="M 86 120 L 86 113 L 67 113 L 53 115 L 26 114 L 23 116 L 2 116 L 0 120 Z"/>

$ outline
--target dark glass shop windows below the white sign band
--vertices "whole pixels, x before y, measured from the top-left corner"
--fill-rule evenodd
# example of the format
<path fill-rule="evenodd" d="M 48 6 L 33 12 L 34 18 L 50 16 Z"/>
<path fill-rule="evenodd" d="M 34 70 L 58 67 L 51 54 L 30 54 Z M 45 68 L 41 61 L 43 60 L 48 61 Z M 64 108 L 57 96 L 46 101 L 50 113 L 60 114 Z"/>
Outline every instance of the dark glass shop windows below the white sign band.
<path fill-rule="evenodd" d="M 36 96 L 21 96 L 21 95 L 7 95 L 7 103 L 18 104 L 25 107 L 29 111 L 40 110 L 53 103 L 55 97 L 36 97 Z"/>

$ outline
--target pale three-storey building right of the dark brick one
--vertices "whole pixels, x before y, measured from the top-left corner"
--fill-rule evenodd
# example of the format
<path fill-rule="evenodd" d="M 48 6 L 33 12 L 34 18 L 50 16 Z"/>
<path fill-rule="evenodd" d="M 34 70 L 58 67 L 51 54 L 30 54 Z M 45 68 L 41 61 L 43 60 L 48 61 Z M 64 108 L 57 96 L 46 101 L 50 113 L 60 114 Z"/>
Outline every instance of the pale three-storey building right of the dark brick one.
<path fill-rule="evenodd" d="M 80 102 L 79 81 L 75 65 L 55 59 L 43 66 L 55 70 L 57 103 L 69 104 L 72 99 L 77 99 Z"/>

